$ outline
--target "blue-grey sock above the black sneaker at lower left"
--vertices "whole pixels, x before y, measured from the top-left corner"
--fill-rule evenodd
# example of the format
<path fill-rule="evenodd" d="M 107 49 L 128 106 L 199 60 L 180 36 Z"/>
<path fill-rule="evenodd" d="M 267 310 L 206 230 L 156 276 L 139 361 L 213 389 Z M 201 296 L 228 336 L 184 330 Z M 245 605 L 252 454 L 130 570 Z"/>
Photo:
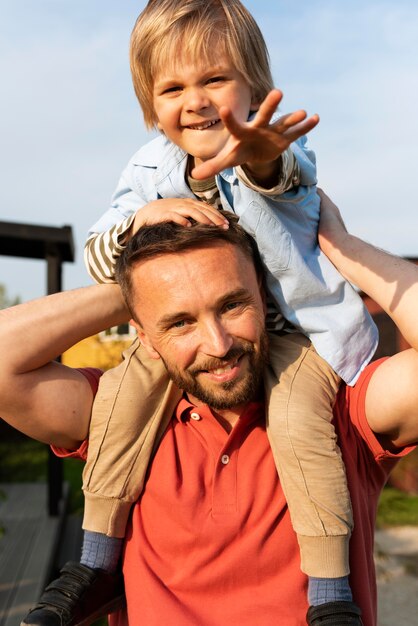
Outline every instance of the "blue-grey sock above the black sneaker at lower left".
<path fill-rule="evenodd" d="M 113 573 L 118 567 L 122 544 L 123 539 L 85 530 L 80 563 Z"/>

